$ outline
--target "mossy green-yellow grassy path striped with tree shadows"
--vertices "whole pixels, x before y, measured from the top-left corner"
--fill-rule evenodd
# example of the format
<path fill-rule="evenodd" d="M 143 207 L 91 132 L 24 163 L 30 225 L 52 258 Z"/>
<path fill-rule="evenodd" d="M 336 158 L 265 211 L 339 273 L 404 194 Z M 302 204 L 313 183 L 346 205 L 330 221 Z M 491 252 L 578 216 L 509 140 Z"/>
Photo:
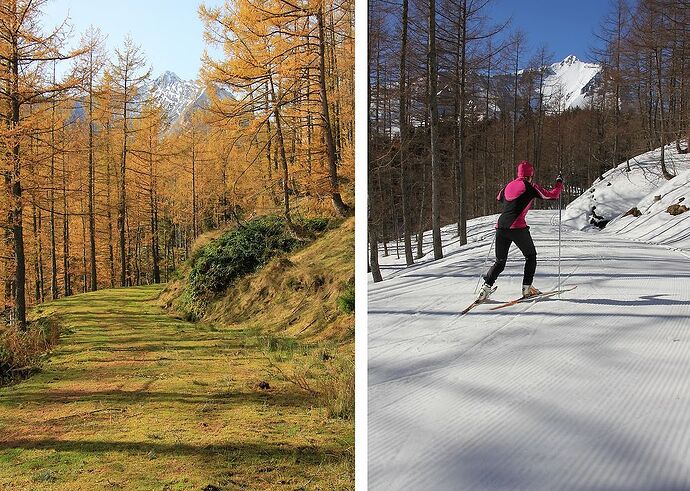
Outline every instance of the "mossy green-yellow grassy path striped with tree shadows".
<path fill-rule="evenodd" d="M 256 331 L 173 319 L 159 292 L 44 307 L 68 332 L 39 374 L 0 388 L 0 489 L 354 487 L 352 423 L 290 384 L 260 390 Z"/>

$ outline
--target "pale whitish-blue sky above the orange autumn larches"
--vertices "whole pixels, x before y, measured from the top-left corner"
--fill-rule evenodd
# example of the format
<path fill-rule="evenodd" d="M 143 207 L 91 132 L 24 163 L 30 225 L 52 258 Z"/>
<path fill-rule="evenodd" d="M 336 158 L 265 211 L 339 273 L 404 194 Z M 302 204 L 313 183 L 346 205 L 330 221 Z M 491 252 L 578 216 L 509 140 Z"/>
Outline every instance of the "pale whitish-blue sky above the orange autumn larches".
<path fill-rule="evenodd" d="M 54 26 L 69 17 L 74 46 L 87 27 L 99 27 L 108 36 L 111 53 L 129 33 L 153 66 L 154 77 L 170 70 L 194 79 L 205 47 L 198 5 L 198 0 L 52 0 L 44 8 L 44 25 Z"/>

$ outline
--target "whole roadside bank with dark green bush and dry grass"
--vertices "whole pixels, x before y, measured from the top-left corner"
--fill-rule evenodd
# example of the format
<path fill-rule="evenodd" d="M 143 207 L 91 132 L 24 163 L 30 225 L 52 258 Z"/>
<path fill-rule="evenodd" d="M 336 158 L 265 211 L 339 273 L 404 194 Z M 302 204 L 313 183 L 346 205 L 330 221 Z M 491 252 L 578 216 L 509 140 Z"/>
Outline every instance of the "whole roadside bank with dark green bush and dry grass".
<path fill-rule="evenodd" d="M 304 342 L 354 340 L 354 220 L 262 217 L 202 236 L 161 302 L 190 320 L 251 323 Z"/>

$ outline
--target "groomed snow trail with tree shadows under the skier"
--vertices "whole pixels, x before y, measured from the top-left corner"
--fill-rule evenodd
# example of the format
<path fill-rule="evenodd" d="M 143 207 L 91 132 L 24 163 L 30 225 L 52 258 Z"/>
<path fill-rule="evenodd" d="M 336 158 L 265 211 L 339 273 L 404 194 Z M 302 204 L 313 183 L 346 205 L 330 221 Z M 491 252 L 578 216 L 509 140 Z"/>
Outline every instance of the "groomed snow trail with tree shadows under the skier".
<path fill-rule="evenodd" d="M 542 290 L 558 281 L 554 214 L 528 217 Z M 461 317 L 494 219 L 369 284 L 370 489 L 690 490 L 688 257 L 564 229 L 576 290 Z M 519 295 L 523 264 L 513 246 L 494 300 Z"/>

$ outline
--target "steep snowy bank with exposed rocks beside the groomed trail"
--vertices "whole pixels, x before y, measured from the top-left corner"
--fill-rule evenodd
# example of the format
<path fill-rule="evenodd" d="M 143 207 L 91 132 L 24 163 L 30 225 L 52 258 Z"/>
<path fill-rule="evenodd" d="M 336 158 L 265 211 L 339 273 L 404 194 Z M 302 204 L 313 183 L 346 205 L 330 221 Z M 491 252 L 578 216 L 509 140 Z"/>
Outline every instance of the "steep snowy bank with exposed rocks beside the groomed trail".
<path fill-rule="evenodd" d="M 678 154 L 675 145 L 668 145 L 665 155 L 669 171 L 677 174 L 674 179 L 667 181 L 661 173 L 660 149 L 644 153 L 630 160 L 629 172 L 623 162 L 570 203 L 563 212 L 564 222 L 580 230 L 590 228 L 591 209 L 596 206 L 598 215 L 613 220 L 606 228 L 610 232 L 690 249 L 685 232 L 690 213 L 674 217 L 666 212 L 671 204 L 690 201 L 690 154 Z M 633 207 L 643 215 L 621 217 Z"/>

